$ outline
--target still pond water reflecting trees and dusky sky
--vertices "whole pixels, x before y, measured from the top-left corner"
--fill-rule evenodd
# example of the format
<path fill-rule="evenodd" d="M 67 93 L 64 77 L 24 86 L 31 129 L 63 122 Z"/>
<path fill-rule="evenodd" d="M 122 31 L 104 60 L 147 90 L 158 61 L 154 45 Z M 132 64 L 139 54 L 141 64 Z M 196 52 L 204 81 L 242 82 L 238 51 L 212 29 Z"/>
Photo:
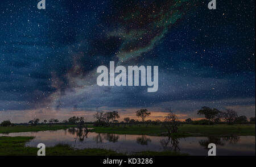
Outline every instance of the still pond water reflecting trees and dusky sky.
<path fill-rule="evenodd" d="M 18 132 L 0 136 L 35 136 L 26 146 L 36 147 L 38 143 L 52 147 L 69 144 L 76 149 L 103 148 L 131 154 L 142 151 L 176 151 L 189 155 L 207 155 L 208 144 L 217 145 L 217 155 L 255 155 L 255 136 L 227 137 L 185 137 L 174 138 L 147 135 L 117 135 L 95 133 L 85 128 L 69 128 L 57 131 Z"/>

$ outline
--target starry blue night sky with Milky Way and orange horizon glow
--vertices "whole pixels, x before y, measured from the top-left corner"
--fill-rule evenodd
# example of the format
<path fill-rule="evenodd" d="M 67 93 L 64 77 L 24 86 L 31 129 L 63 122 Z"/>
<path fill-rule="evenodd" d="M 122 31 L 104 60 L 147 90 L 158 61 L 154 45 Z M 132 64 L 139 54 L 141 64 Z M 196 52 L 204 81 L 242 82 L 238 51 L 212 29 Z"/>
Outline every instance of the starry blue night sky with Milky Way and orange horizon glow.
<path fill-rule="evenodd" d="M 0 3 L 0 121 L 138 108 L 196 119 L 203 106 L 255 116 L 255 1 L 38 2 Z M 109 61 L 158 65 L 158 91 L 97 86 Z"/>

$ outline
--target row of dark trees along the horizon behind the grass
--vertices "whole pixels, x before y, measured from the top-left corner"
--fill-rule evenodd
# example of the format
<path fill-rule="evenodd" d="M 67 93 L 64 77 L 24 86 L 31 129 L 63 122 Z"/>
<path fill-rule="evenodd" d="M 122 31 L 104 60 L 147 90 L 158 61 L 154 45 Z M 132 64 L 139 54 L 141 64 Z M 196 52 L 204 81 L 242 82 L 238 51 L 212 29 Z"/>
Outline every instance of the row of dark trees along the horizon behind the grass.
<path fill-rule="evenodd" d="M 169 120 L 172 120 L 174 122 L 180 122 L 177 119 L 177 116 L 170 110 L 169 114 L 164 117 L 164 120 L 161 121 L 159 119 L 157 120 L 146 120 L 147 117 L 151 115 L 151 112 L 148 112 L 147 109 L 141 109 L 135 112 L 136 116 L 138 118 L 141 118 L 141 121 L 130 119 L 129 117 L 123 118 L 123 121 L 121 123 L 164 123 L 169 122 Z M 171 115 L 170 115 L 171 114 Z M 197 111 L 198 115 L 204 115 L 205 119 L 203 120 L 192 120 L 191 118 L 185 119 L 185 123 L 192 123 L 192 124 L 214 124 L 214 123 L 247 123 L 248 120 L 246 116 L 241 115 L 238 116 L 237 112 L 232 109 L 226 109 L 224 111 L 220 111 L 217 108 L 210 108 L 207 106 L 202 107 L 200 110 Z M 96 121 L 94 122 L 94 126 L 110 126 L 110 124 L 118 123 L 117 120 L 120 118 L 118 111 L 110 111 L 110 112 L 104 112 L 104 111 L 97 111 L 94 115 L 94 118 Z M 84 124 L 85 123 L 85 117 L 78 117 L 78 116 L 72 116 L 68 120 L 63 120 L 61 123 L 69 123 L 69 124 Z M 224 120 L 222 122 L 221 120 Z M 31 126 L 36 126 L 39 124 L 39 119 L 35 118 L 33 120 L 30 120 L 28 124 L 31 124 Z M 56 124 L 60 123 L 58 119 L 44 119 L 41 124 Z M 250 123 L 255 123 L 255 117 L 250 118 Z M 14 124 L 11 124 L 10 120 L 5 120 L 1 123 L 1 126 L 13 126 Z M 170 127 L 174 128 L 174 127 Z"/>

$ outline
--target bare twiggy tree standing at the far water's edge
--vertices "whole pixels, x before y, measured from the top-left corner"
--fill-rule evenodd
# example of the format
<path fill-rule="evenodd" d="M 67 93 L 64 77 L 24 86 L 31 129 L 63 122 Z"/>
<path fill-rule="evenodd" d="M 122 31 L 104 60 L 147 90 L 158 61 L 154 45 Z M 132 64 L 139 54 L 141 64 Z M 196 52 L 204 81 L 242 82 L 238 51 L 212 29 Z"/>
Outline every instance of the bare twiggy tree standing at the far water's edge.
<path fill-rule="evenodd" d="M 179 126 L 177 116 L 173 112 L 170 112 L 164 118 L 163 126 L 168 131 L 168 135 L 170 136 L 172 133 L 177 133 L 177 128 Z"/>

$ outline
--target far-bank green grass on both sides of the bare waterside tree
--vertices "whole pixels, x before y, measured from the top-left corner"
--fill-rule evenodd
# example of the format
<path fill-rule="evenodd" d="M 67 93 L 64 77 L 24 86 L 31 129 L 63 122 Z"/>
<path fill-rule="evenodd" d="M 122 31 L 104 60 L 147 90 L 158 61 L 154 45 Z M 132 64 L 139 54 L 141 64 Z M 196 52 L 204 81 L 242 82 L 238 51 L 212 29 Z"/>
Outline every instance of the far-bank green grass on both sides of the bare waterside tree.
<path fill-rule="evenodd" d="M 134 134 L 134 135 L 166 135 L 166 130 L 161 126 L 115 126 L 115 127 L 94 127 L 94 132 Z M 179 126 L 177 137 L 186 136 L 255 136 L 255 124 L 217 124 L 213 126 L 183 124 Z"/>

